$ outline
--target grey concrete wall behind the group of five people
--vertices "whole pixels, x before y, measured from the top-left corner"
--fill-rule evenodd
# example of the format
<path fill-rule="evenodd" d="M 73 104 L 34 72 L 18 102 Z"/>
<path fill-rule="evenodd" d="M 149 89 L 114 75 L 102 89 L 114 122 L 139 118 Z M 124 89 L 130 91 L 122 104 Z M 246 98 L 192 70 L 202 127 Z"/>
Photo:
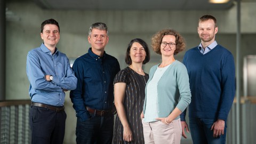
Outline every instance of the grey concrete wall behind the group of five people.
<path fill-rule="evenodd" d="M 42 43 L 39 36 L 40 25 L 45 19 L 53 18 L 60 25 L 60 41 L 58 49 L 69 58 L 77 58 L 87 52 L 87 31 L 94 22 L 105 22 L 109 27 L 109 44 L 106 52 L 116 57 L 121 68 L 124 63 L 127 44 L 133 38 L 142 38 L 150 45 L 151 36 L 163 28 L 180 31 L 187 42 L 187 49 L 199 44 L 197 35 L 198 18 L 203 14 L 212 14 L 218 20 L 219 33 L 217 42 L 227 47 L 236 58 L 236 5 L 223 11 L 75 11 L 75 10 L 42 10 L 33 1 L 6 2 L 12 14 L 6 20 L 6 99 L 29 99 L 29 82 L 26 75 L 27 52 Z M 241 68 L 244 55 L 256 54 L 256 3 L 242 3 L 241 23 Z M 177 55 L 182 60 L 183 54 Z M 151 51 L 151 61 L 145 66 L 149 68 L 161 59 L 160 55 Z M 242 82 L 241 77 L 238 78 Z M 242 84 L 241 84 L 242 85 Z M 242 90 L 242 87 L 240 87 Z M 65 143 L 75 143 L 75 111 L 66 95 Z"/>

